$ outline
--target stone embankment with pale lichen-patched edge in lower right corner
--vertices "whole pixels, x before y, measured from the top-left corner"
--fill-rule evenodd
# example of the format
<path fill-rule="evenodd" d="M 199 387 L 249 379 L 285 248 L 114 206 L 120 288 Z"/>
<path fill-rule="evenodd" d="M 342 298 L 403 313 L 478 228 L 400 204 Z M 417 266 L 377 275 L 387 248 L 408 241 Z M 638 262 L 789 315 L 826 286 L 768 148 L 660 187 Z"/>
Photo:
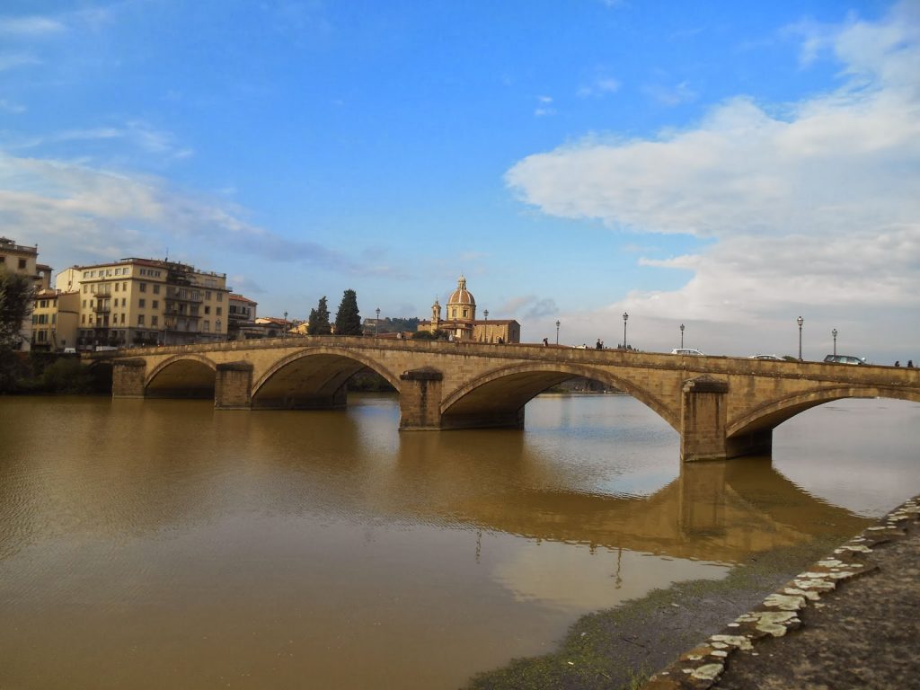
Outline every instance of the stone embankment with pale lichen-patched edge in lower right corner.
<path fill-rule="evenodd" d="M 920 687 L 920 496 L 655 673 L 643 690 Z"/>

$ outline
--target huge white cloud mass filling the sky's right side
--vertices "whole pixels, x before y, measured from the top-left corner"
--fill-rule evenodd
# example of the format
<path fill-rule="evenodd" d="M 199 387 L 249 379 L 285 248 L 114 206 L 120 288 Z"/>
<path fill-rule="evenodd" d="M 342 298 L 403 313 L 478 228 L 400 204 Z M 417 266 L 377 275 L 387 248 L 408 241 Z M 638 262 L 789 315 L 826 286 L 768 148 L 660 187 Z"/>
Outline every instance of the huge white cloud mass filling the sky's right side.
<path fill-rule="evenodd" d="M 920 5 L 819 33 L 844 65 L 831 93 L 731 98 L 693 128 L 594 136 L 508 171 L 543 213 L 715 240 L 694 256 L 639 259 L 692 270 L 679 290 L 630 293 L 601 315 L 566 315 L 570 327 L 627 310 L 644 319 L 646 347 L 666 349 L 674 322 L 697 319 L 716 347 L 739 351 L 805 312 L 812 326 L 845 317 L 884 350 L 896 343 L 879 342 L 880 319 L 900 310 L 920 339 Z"/>

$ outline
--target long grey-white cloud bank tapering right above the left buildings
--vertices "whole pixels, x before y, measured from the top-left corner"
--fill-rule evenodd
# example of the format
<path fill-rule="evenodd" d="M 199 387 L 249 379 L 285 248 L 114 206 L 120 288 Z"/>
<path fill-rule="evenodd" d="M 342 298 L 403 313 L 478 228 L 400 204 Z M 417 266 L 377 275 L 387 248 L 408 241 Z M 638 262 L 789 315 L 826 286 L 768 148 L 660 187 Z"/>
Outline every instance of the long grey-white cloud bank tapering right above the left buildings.
<path fill-rule="evenodd" d="M 247 261 L 368 272 L 339 252 L 271 233 L 248 223 L 243 209 L 175 190 L 162 178 L 2 152 L 0 224 L 19 242 L 53 247 L 43 260 L 59 266 L 160 256 L 166 247 L 210 256 L 219 244 Z"/>

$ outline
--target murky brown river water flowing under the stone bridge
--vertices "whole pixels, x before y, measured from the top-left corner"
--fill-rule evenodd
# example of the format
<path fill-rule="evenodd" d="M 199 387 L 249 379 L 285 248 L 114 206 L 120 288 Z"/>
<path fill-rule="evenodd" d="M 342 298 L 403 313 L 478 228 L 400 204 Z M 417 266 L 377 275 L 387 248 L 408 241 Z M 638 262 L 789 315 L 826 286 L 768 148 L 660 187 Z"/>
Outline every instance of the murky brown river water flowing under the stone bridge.
<path fill-rule="evenodd" d="M 584 613 L 855 534 L 920 491 L 920 405 L 839 401 L 684 466 L 625 396 L 524 431 L 0 398 L 0 687 L 455 688 Z"/>

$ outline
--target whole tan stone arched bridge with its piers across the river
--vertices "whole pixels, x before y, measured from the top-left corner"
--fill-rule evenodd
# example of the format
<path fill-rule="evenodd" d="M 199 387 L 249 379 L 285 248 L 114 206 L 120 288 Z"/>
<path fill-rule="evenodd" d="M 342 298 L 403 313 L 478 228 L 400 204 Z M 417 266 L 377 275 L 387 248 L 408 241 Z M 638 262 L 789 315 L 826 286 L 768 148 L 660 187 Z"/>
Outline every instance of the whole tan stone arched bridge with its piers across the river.
<path fill-rule="evenodd" d="M 653 409 L 684 461 L 767 454 L 773 429 L 845 397 L 920 402 L 920 369 L 531 344 L 309 336 L 97 352 L 113 397 L 212 397 L 219 409 L 341 408 L 365 367 L 399 393 L 403 431 L 523 427 L 524 405 L 585 376 Z"/>

